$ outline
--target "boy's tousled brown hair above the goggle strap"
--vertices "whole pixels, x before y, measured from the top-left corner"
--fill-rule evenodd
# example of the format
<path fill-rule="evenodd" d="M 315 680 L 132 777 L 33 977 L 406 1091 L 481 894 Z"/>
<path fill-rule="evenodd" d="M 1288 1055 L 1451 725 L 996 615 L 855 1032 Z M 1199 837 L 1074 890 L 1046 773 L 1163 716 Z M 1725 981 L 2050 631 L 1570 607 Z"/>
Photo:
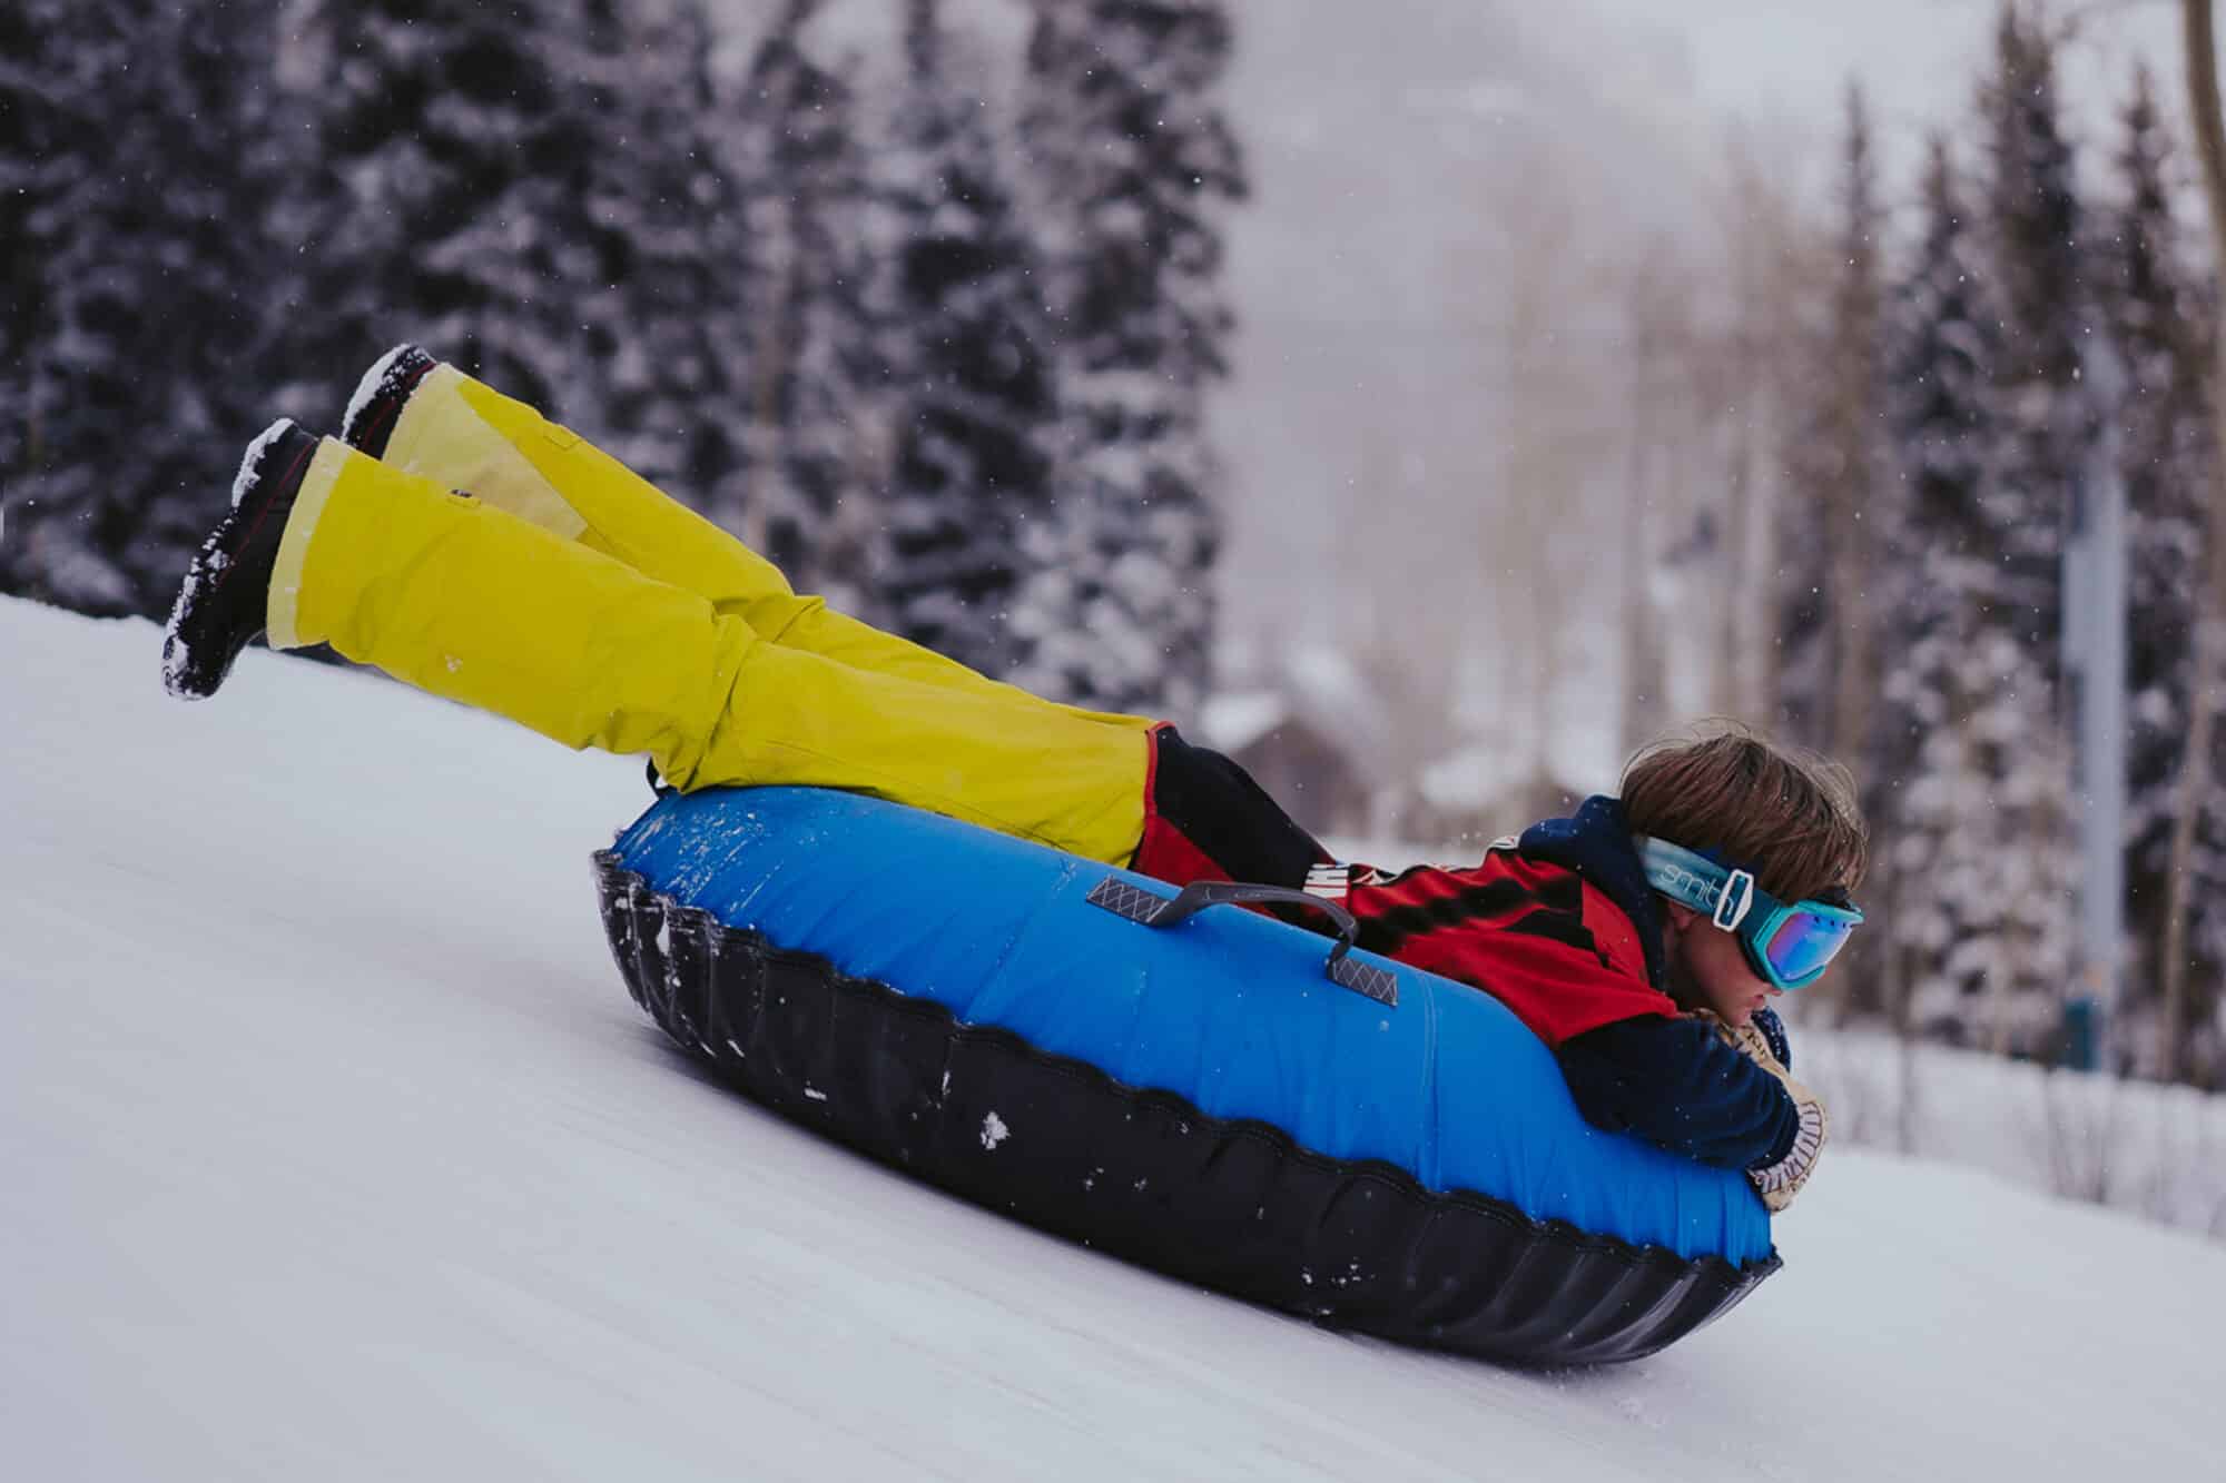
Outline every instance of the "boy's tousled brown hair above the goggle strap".
<path fill-rule="evenodd" d="M 1854 891 L 1870 855 L 1854 775 L 1745 726 L 1663 737 L 1623 768 L 1632 833 L 1714 851 L 1781 902 Z"/>

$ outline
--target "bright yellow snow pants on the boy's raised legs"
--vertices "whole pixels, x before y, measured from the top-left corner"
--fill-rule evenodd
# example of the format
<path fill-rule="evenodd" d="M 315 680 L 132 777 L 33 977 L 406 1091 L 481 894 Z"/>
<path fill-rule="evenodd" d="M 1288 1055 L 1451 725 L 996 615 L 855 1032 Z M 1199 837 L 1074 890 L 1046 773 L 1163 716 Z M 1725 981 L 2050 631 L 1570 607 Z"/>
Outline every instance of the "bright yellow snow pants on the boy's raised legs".
<path fill-rule="evenodd" d="M 565 746 L 648 753 L 683 790 L 848 788 L 1131 860 L 1153 721 L 1037 699 L 799 597 L 579 434 L 432 376 L 390 461 L 318 448 L 272 577 L 274 648 L 332 644 Z"/>

